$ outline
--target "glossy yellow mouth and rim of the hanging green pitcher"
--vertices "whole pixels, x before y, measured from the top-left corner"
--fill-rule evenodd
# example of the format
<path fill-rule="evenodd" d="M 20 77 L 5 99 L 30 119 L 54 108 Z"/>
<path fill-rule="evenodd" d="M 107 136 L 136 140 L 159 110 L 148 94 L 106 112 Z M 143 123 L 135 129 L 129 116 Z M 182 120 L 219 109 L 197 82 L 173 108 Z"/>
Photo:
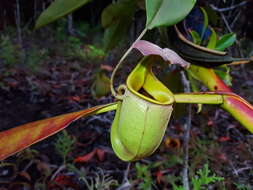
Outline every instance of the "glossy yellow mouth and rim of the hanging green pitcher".
<path fill-rule="evenodd" d="M 154 62 L 155 57 L 144 57 L 128 76 L 127 89 L 141 99 L 154 104 L 173 104 L 173 93 L 152 72 Z"/>

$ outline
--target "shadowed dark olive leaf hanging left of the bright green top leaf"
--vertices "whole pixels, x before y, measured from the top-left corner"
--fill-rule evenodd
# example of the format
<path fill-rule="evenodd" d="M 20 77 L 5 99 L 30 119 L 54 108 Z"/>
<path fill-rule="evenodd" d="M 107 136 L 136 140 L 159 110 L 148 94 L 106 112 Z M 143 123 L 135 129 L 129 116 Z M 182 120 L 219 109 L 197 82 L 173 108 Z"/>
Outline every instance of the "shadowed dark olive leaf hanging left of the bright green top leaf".
<path fill-rule="evenodd" d="M 101 17 L 106 31 L 104 33 L 105 50 L 114 48 L 127 34 L 137 7 L 136 0 L 121 0 L 107 6 Z"/>

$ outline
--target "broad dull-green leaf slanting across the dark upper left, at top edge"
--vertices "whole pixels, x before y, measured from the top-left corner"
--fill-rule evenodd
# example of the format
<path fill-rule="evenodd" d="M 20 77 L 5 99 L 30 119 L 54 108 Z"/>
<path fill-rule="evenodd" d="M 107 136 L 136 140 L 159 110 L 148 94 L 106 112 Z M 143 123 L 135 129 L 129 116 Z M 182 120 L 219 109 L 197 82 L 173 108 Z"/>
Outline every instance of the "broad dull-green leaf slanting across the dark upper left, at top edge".
<path fill-rule="evenodd" d="M 45 11 L 42 12 L 36 21 L 35 29 L 58 20 L 90 1 L 91 0 L 55 0 Z"/>

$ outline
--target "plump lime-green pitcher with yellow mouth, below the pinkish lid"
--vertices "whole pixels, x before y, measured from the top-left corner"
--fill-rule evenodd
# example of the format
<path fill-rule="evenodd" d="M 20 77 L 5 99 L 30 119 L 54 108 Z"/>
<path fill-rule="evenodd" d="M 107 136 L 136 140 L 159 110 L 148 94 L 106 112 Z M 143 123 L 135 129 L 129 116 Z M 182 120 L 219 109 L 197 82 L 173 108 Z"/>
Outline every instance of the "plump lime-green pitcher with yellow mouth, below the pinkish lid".
<path fill-rule="evenodd" d="M 153 74 L 155 57 L 145 57 L 127 78 L 111 129 L 116 155 L 134 161 L 151 155 L 160 145 L 172 113 L 174 97 Z"/>

